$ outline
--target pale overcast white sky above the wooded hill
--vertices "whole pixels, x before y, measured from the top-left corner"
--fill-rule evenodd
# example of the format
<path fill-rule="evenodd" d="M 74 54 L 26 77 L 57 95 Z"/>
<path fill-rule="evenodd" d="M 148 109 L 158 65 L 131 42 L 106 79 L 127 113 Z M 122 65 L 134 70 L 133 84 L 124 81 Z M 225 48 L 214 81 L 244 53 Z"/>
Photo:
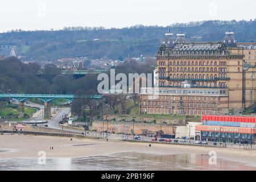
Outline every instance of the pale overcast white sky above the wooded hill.
<path fill-rule="evenodd" d="M 250 20 L 256 18 L 255 7 L 255 0 L 8 0 L 1 2 L 0 32 Z"/>

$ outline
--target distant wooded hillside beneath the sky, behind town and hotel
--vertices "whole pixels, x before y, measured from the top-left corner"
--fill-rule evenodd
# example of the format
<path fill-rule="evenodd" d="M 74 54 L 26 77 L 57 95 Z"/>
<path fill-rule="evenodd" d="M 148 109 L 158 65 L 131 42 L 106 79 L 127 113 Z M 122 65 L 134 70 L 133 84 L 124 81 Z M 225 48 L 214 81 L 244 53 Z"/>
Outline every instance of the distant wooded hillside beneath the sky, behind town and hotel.
<path fill-rule="evenodd" d="M 172 24 L 189 41 L 220 41 L 225 31 L 234 31 L 238 42 L 256 42 L 256 20 L 204 21 Z M 56 60 L 87 56 L 118 59 L 119 56 L 154 56 L 167 27 L 134 26 L 129 28 L 65 27 L 56 31 L 10 31 L 0 34 L 0 46 L 17 46 L 16 53 L 26 60 Z M 0 48 L 9 56 L 10 49 Z"/>

